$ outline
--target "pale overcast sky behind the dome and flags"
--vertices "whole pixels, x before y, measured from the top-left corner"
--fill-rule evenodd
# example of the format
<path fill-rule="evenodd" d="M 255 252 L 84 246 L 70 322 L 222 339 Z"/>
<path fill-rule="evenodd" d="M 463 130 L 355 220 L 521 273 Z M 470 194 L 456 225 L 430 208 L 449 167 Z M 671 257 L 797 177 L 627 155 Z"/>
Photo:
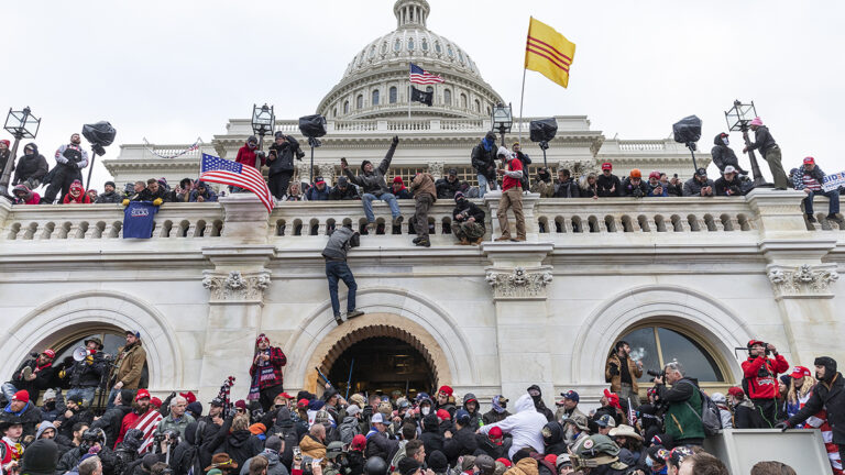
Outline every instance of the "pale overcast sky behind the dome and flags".
<path fill-rule="evenodd" d="M 395 29 L 393 3 L 15 2 L 0 26 L 0 108 L 30 106 L 43 118 L 36 143 L 51 166 L 72 132 L 99 120 L 114 125 L 117 143 L 189 144 L 223 133 L 254 102 L 298 118 L 366 43 Z M 806 155 L 827 173 L 845 169 L 845 2 L 429 3 L 429 29 L 467 51 L 515 109 L 529 15 L 578 45 L 569 89 L 528 71 L 525 115 L 586 114 L 608 139 L 661 139 L 694 113 L 706 153 L 733 100 L 754 100 L 787 170 Z M 732 139 L 738 153 L 742 139 Z M 98 189 L 108 177 L 100 159 Z"/>

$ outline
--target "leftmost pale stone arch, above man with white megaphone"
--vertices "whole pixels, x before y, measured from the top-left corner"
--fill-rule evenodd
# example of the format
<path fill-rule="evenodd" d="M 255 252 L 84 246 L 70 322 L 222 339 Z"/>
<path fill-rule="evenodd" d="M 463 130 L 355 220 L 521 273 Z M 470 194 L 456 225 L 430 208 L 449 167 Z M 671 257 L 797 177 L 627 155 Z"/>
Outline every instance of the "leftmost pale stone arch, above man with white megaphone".
<path fill-rule="evenodd" d="M 0 343 L 0 374 L 9 379 L 15 366 L 35 349 L 54 341 L 57 332 L 84 333 L 103 327 L 138 329 L 146 350 L 150 389 L 169 390 L 183 383 L 182 352 L 164 316 L 128 294 L 88 290 L 51 300 L 6 329 Z"/>

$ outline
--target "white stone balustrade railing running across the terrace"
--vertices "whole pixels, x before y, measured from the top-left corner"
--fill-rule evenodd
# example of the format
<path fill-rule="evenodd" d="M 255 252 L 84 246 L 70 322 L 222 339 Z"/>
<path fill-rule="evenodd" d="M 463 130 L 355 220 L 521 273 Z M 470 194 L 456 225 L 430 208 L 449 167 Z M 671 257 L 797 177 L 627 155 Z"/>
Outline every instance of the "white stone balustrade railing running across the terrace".
<path fill-rule="evenodd" d="M 198 240 L 227 239 L 226 227 L 243 221 L 239 218 L 243 208 L 252 206 L 244 200 L 251 195 L 222 198 L 221 203 L 165 203 L 155 216 L 153 239 Z M 801 195 L 795 191 L 755 191 L 745 198 L 607 198 L 607 199 L 539 199 L 536 195 L 524 197 L 524 212 L 529 241 L 575 242 L 604 234 L 610 240 L 630 240 L 644 236 L 651 242 L 672 240 L 678 236 L 691 242 L 712 242 L 714 236 L 724 242 L 726 233 L 733 240 L 745 236 L 757 241 L 769 230 L 790 232 L 835 232 L 841 228 L 823 220 L 809 224 L 799 208 Z M 238 202 L 232 208 L 227 202 Z M 487 239 L 498 235 L 495 212 L 498 195 L 489 194 L 475 202 L 485 211 Z M 262 211 L 255 201 L 257 211 Z M 819 199 L 823 209 L 826 200 Z M 439 200 L 429 212 L 429 232 L 432 243 L 448 245 L 454 241 L 451 231 L 451 200 Z M 251 209 L 251 208 L 250 208 Z M 400 225 L 392 224 L 389 208 L 382 201 L 373 203 L 376 217 L 375 235 L 384 245 L 405 245 L 414 233 L 409 221 L 414 216 L 414 201 L 399 200 L 405 218 Z M 256 211 L 256 212 L 257 212 Z M 251 220 L 263 221 L 262 214 Z M 512 219 L 513 221 L 513 219 Z M 120 205 L 52 205 L 11 206 L 0 203 L 0 241 L 61 241 L 109 240 L 122 238 L 123 207 Z M 361 201 L 299 201 L 278 205 L 260 230 L 250 231 L 251 239 L 277 242 L 288 239 L 309 242 L 309 238 L 325 236 L 338 225 L 351 224 L 363 232 L 366 219 Z M 513 225 L 513 224 L 512 224 Z M 836 235 L 836 234 L 833 234 Z M 614 238 L 617 236 L 617 238 Z M 625 236 L 625 238 L 623 238 Z M 646 238 L 647 236 L 647 238 Z M 243 238 L 243 233 L 229 235 Z M 836 238 L 838 240 L 838 236 Z M 641 239 L 640 239 L 641 240 Z M 677 241 L 677 238 L 674 239 Z"/>

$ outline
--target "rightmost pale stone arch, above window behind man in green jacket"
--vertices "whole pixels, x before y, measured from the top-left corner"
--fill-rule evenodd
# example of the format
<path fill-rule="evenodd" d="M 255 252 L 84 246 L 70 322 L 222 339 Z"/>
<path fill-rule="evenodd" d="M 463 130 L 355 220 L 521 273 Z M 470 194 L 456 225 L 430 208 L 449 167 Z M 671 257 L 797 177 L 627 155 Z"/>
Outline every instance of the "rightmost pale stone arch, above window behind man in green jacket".
<path fill-rule="evenodd" d="M 607 299 L 581 325 L 572 347 L 572 380 L 594 383 L 601 377 L 607 349 L 627 329 L 648 320 L 671 318 L 717 352 L 729 369 L 728 380 L 742 378 L 733 354 L 750 339 L 747 324 L 716 299 L 690 288 L 670 285 L 634 287 Z"/>

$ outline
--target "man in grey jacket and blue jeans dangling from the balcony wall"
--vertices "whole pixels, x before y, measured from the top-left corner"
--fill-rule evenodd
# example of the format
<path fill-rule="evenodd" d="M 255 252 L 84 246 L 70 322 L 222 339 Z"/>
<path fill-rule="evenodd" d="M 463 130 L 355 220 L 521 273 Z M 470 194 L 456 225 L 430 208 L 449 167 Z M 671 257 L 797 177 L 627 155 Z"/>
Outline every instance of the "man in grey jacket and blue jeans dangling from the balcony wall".
<path fill-rule="evenodd" d="M 361 245 L 361 235 L 352 231 L 351 227 L 336 228 L 329 233 L 329 242 L 322 250 L 326 258 L 326 277 L 329 279 L 329 296 L 331 297 L 331 310 L 334 321 L 343 323 L 340 314 L 340 300 L 338 299 L 338 280 L 343 280 L 349 292 L 347 294 L 347 320 L 364 314 L 355 309 L 355 277 L 347 265 L 347 253 L 351 247 Z"/>

